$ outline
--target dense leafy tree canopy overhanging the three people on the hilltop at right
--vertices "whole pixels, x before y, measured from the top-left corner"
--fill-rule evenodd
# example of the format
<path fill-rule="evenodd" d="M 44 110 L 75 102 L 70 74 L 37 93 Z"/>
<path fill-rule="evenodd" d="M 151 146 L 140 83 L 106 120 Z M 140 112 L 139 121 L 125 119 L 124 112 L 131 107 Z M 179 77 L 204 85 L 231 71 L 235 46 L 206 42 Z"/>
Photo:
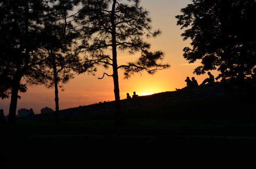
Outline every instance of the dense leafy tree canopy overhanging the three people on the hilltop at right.
<path fill-rule="evenodd" d="M 181 9 L 177 25 L 184 30 L 184 58 L 202 60 L 194 73 L 220 71 L 216 79 L 230 81 L 256 76 L 255 0 L 192 0 Z"/>

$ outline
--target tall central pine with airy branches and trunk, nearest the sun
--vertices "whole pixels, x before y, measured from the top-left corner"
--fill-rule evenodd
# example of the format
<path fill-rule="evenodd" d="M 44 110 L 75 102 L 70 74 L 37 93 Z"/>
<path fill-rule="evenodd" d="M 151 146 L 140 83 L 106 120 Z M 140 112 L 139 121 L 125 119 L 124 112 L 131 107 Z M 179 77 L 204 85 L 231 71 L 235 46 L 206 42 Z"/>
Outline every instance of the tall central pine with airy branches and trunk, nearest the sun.
<path fill-rule="evenodd" d="M 86 52 L 88 60 L 101 63 L 105 68 L 112 67 L 113 73 L 104 73 L 103 77 L 113 77 L 117 123 L 122 122 L 118 69 L 123 69 L 128 78 L 134 73 L 147 71 L 153 74 L 169 67 L 158 62 L 163 59 L 162 51 L 148 51 L 150 44 L 143 40 L 143 36 L 155 37 L 161 32 L 151 32 L 149 13 L 139 3 L 140 0 L 82 0 L 77 17 L 83 35 L 80 51 Z M 106 54 L 107 50 L 111 50 L 112 55 Z M 118 65 L 117 50 L 130 54 L 141 52 L 141 56 L 136 62 Z"/>

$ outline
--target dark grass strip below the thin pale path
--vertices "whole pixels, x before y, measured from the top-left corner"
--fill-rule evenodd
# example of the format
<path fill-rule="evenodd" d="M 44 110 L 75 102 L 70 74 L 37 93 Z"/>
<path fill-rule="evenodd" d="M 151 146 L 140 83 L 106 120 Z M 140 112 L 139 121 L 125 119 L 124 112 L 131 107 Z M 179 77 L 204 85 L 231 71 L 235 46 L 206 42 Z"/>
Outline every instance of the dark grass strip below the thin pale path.
<path fill-rule="evenodd" d="M 5 137 L 2 143 L 4 169 L 241 169 L 256 164 L 255 141 L 246 139 L 23 136 Z"/>

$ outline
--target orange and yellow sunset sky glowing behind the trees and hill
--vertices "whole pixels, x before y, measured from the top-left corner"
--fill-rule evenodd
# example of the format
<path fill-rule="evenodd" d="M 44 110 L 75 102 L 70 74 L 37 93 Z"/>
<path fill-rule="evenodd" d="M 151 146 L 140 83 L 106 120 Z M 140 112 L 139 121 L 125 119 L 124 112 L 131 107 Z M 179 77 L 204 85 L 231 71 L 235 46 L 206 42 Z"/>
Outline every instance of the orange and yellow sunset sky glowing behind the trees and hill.
<path fill-rule="evenodd" d="M 132 76 L 128 80 L 124 80 L 123 72 L 119 71 L 119 88 L 121 99 L 126 98 L 126 93 L 136 92 L 139 96 L 159 93 L 165 91 L 174 91 L 175 88 L 185 87 L 185 79 L 187 76 L 195 77 L 200 84 L 207 75 L 197 76 L 193 74 L 193 70 L 200 62 L 188 64 L 188 61 L 182 57 L 182 49 L 189 46 L 189 41 L 183 41 L 180 34 L 180 26 L 176 26 L 175 15 L 180 15 L 180 9 L 187 6 L 190 0 L 141 0 L 141 5 L 150 11 L 152 17 L 153 29 L 160 28 L 163 32 L 161 36 L 155 39 L 146 39 L 152 44 L 151 50 L 162 50 L 165 52 L 165 60 L 171 67 L 158 71 L 154 75 L 148 75 L 143 72 L 142 75 Z M 118 64 L 128 61 L 135 61 L 139 53 L 134 56 L 128 53 L 119 53 L 117 56 Z M 71 79 L 69 83 L 64 85 L 64 92 L 59 92 L 60 109 L 70 107 L 78 107 L 79 105 L 88 105 L 98 103 L 100 101 L 113 101 L 113 79 L 112 77 L 102 77 L 103 72 L 107 72 L 103 68 L 98 68 L 95 76 L 78 75 Z M 212 74 L 216 77 L 217 72 Z M 17 110 L 21 108 L 32 108 L 35 113 L 40 113 L 43 107 L 50 107 L 55 110 L 54 90 L 45 86 L 28 87 L 26 93 L 19 94 L 22 98 L 18 100 Z M 4 114 L 9 113 L 10 99 L 0 100 L 0 109 L 4 109 Z M 17 114 L 17 113 L 16 113 Z"/>

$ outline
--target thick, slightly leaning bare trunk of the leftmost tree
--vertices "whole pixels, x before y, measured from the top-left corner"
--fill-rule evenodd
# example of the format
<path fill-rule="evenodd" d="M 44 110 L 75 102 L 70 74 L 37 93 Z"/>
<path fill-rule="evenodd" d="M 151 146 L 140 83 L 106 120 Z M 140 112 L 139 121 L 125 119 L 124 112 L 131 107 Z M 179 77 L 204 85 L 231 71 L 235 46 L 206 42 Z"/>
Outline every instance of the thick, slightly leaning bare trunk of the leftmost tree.
<path fill-rule="evenodd" d="M 8 123 L 15 123 L 18 92 L 20 87 L 21 78 L 13 79 L 12 90 L 11 90 L 11 103 L 9 107 Z"/>

